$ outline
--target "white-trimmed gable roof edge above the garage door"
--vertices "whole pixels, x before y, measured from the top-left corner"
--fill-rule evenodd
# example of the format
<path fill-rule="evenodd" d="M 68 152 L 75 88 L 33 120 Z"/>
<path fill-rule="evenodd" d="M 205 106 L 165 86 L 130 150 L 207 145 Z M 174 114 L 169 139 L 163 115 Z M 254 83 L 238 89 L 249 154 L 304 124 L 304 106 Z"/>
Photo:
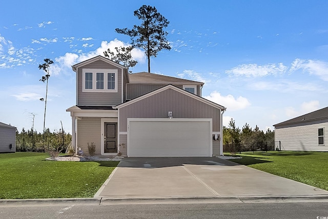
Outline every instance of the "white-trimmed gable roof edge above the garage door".
<path fill-rule="evenodd" d="M 149 73 L 148 73 L 148 74 L 149 74 Z M 151 92 L 149 92 L 149 93 L 146 93 L 146 94 L 144 94 L 144 95 L 138 96 L 138 97 L 136 97 L 136 98 L 134 98 L 134 99 L 131 99 L 131 101 L 128 101 L 128 102 L 125 102 L 125 103 L 121 103 L 121 104 L 118 104 L 118 105 L 116 105 L 116 106 L 113 107 L 113 108 L 114 108 L 114 109 L 119 109 L 119 108 L 122 108 L 122 107 L 126 107 L 126 106 L 128 106 L 128 105 L 130 105 L 130 104 L 133 104 L 133 103 L 136 103 L 136 102 L 138 102 L 138 101 L 141 101 L 141 99 L 145 99 L 145 98 L 147 98 L 147 97 L 149 97 L 149 96 L 155 95 L 155 94 L 157 94 L 157 93 L 160 93 L 160 92 L 162 92 L 162 91 L 164 91 L 164 90 L 168 90 L 168 89 L 173 89 L 173 90 L 175 90 L 175 91 L 177 91 L 177 92 L 183 93 L 183 94 L 185 94 L 185 95 L 187 95 L 187 96 L 190 96 L 190 97 L 192 97 L 192 98 L 194 98 L 194 99 L 197 99 L 198 101 L 203 102 L 203 103 L 206 103 L 206 104 L 208 104 L 208 105 L 210 105 L 210 106 L 213 106 L 213 107 L 215 107 L 215 108 L 217 108 L 217 109 L 221 109 L 221 110 L 224 110 L 224 111 L 227 109 L 226 107 L 223 107 L 223 106 L 221 106 L 221 105 L 219 105 L 219 104 L 216 104 L 216 103 L 214 103 L 214 102 L 212 102 L 212 101 L 209 101 L 209 100 L 206 99 L 206 98 L 203 98 L 203 97 L 198 96 L 198 95 L 196 95 L 196 94 L 190 93 L 190 92 L 188 92 L 188 91 L 186 91 L 186 90 L 183 90 L 183 89 L 178 88 L 178 87 L 176 87 L 176 86 L 174 86 L 174 85 L 171 85 L 171 84 L 166 85 L 166 86 L 161 87 L 161 88 L 158 88 L 158 89 L 156 89 L 156 90 L 153 90 L 153 91 L 151 91 Z"/>

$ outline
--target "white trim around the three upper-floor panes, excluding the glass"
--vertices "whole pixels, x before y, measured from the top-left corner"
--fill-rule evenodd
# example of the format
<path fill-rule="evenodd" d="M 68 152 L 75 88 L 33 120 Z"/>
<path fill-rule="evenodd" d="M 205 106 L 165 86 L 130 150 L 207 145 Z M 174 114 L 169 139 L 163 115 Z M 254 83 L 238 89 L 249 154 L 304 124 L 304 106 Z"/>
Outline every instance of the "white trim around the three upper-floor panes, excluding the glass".
<path fill-rule="evenodd" d="M 86 72 L 92 72 L 92 89 L 86 89 Z M 104 89 L 96 89 L 97 83 L 97 73 L 104 73 Z M 115 74 L 115 89 L 108 90 L 107 89 L 107 73 L 114 73 Z M 118 71 L 117 69 L 83 69 L 82 71 L 82 92 L 110 92 L 110 93 L 117 93 L 117 78 L 118 78 Z"/>

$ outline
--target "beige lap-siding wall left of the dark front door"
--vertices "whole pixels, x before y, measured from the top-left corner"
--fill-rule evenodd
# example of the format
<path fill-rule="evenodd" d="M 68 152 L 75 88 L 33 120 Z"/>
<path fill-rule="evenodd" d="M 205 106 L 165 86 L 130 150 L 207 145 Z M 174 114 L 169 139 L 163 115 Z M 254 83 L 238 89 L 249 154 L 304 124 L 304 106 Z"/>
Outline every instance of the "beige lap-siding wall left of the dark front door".
<path fill-rule="evenodd" d="M 101 118 L 82 117 L 77 120 L 77 148 L 80 147 L 84 155 L 89 156 L 88 143 L 94 142 L 96 145 L 95 155 L 101 154 Z"/>

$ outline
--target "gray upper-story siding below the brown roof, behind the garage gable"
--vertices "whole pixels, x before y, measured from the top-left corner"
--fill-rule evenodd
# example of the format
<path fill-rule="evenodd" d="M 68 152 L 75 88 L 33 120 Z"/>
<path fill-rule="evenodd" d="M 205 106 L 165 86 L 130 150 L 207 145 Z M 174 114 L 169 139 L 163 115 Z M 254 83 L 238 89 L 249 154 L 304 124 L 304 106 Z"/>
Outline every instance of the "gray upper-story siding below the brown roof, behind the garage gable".
<path fill-rule="evenodd" d="M 127 84 L 127 99 L 136 98 L 164 86 L 167 84 Z M 182 85 L 176 87 L 182 88 Z"/>

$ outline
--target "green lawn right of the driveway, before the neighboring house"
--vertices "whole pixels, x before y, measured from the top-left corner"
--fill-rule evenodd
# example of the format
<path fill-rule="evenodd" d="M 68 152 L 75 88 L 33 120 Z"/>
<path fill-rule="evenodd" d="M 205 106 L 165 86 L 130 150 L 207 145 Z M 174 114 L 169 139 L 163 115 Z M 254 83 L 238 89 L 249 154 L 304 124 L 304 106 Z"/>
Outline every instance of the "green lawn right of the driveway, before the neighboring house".
<path fill-rule="evenodd" d="M 327 152 L 270 151 L 237 155 L 242 159 L 231 161 L 328 190 Z"/>

